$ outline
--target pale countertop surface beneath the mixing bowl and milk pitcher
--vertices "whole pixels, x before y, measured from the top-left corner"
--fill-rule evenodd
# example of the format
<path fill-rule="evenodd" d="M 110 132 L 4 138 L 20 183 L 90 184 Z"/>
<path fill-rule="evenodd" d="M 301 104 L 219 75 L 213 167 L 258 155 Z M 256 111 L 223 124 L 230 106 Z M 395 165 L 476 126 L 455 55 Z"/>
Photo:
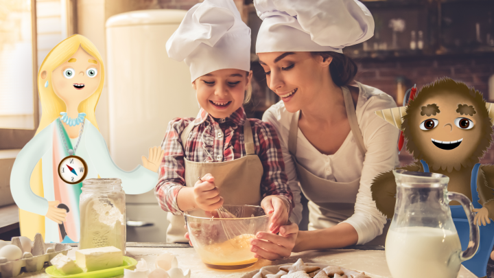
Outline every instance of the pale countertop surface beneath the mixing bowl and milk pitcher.
<path fill-rule="evenodd" d="M 333 264 L 349 268 L 352 270 L 364 271 L 367 275 L 373 278 L 392 278 L 386 265 L 386 257 L 384 250 L 362 250 L 365 246 L 354 248 L 358 249 L 338 249 L 327 251 L 305 251 L 301 253 L 292 253 L 292 256 L 288 259 L 282 259 L 276 262 L 270 262 L 266 260 L 259 260 L 253 266 L 240 270 L 215 270 L 207 268 L 202 264 L 199 255 L 190 248 L 188 244 L 158 244 L 158 243 L 127 243 L 127 256 L 133 257 L 139 261 L 141 258 L 145 259 L 148 266 L 154 269 L 154 262 L 156 257 L 167 251 L 173 253 L 178 259 L 178 267 L 183 270 L 191 270 L 191 278 L 213 278 L 213 277 L 227 277 L 227 278 L 240 278 L 245 273 L 253 270 L 257 270 L 263 266 L 294 263 L 298 258 L 303 259 L 304 262 L 314 262 L 320 264 Z M 379 248 L 374 248 L 379 249 Z M 69 251 L 69 257 L 75 258 L 75 250 L 77 246 L 73 245 L 71 251 Z M 48 278 L 51 277 L 41 270 L 37 273 L 22 273 L 17 276 L 23 277 L 36 277 L 36 278 Z M 460 269 L 458 278 L 477 278 L 469 270 L 463 266 Z"/>

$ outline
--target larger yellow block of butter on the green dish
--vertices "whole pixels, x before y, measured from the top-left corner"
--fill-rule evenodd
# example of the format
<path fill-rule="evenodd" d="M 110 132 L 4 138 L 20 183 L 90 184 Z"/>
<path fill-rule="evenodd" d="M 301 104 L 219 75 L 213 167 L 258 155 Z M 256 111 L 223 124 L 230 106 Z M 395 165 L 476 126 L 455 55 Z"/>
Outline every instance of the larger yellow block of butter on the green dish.
<path fill-rule="evenodd" d="M 75 251 L 75 263 L 85 272 L 116 268 L 124 264 L 119 248 L 106 246 Z"/>

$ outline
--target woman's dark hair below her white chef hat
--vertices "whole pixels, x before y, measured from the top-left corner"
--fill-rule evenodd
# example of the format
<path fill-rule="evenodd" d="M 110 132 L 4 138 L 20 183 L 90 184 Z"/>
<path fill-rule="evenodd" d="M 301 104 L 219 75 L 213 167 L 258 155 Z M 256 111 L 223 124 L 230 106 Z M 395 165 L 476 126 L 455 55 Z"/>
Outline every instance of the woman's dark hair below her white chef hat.
<path fill-rule="evenodd" d="M 331 79 L 336 84 L 336 86 L 346 86 L 353 81 L 355 74 L 357 74 L 357 64 L 355 61 L 346 56 L 333 51 L 312 51 L 313 56 L 322 56 L 325 60 L 332 57 L 333 60 L 329 64 L 329 73 L 331 74 Z"/>

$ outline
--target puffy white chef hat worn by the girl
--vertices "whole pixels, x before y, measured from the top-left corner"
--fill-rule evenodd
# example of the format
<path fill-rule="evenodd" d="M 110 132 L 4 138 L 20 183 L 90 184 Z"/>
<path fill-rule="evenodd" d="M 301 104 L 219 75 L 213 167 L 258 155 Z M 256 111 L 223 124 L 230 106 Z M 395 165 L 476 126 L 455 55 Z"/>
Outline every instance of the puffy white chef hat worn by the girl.
<path fill-rule="evenodd" d="M 218 69 L 250 70 L 250 28 L 233 0 L 204 0 L 194 5 L 166 49 L 169 58 L 185 60 L 192 82 Z"/>

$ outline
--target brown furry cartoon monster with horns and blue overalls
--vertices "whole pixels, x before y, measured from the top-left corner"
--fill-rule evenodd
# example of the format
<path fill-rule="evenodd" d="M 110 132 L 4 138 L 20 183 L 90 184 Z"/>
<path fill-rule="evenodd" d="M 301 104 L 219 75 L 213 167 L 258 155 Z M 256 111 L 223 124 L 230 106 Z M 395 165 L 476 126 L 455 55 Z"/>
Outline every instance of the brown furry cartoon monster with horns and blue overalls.
<path fill-rule="evenodd" d="M 467 196 L 480 226 L 480 248 L 463 265 L 479 277 L 486 276 L 486 265 L 494 244 L 494 165 L 480 165 L 480 158 L 491 146 L 494 105 L 482 93 L 462 82 L 443 78 L 427 84 L 406 107 L 376 111 L 390 124 L 403 130 L 407 150 L 416 161 L 403 169 L 435 172 L 449 177 L 447 189 Z M 403 116 L 403 117 L 401 117 Z M 475 182 L 476 181 L 476 182 Z M 397 192 L 392 171 L 379 174 L 371 185 L 377 209 L 388 218 L 395 213 Z M 450 202 L 462 248 L 469 241 L 469 227 L 461 205 Z M 490 219 L 489 219 L 490 218 Z"/>

